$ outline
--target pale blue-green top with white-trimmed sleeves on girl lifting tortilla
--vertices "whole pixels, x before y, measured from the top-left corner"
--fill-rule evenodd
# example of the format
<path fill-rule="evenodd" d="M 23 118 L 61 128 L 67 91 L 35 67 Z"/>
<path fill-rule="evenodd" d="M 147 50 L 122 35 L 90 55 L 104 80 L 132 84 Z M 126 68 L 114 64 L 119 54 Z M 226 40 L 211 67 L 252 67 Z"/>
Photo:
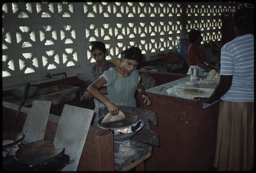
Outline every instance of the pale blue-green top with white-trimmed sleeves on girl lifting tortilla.
<path fill-rule="evenodd" d="M 136 69 L 127 78 L 121 78 L 115 68 L 104 71 L 102 76 L 107 81 L 105 85 L 107 86 L 111 102 L 116 106 L 137 107 L 135 92 L 137 91 L 137 84 L 141 80 L 141 76 L 139 76 L 139 72 Z"/>

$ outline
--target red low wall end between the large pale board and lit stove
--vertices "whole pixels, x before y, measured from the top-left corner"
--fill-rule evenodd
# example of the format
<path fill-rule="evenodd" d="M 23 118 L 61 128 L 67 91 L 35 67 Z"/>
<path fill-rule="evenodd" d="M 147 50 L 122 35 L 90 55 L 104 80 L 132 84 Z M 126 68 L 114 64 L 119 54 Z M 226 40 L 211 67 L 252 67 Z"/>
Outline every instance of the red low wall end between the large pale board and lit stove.
<path fill-rule="evenodd" d="M 115 171 L 111 130 L 90 126 L 77 171 Z"/>

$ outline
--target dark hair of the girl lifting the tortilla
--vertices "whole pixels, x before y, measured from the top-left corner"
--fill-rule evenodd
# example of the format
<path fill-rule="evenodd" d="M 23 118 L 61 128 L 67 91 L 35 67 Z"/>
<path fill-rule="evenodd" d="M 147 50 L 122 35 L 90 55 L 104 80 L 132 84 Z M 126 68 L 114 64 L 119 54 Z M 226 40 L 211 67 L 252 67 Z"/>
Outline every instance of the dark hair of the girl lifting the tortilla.
<path fill-rule="evenodd" d="M 128 48 L 123 52 L 121 52 L 121 59 L 123 57 L 131 60 L 135 60 L 138 63 L 140 63 L 141 60 L 143 59 L 143 54 L 141 53 L 140 48 L 132 46 L 131 48 Z"/>

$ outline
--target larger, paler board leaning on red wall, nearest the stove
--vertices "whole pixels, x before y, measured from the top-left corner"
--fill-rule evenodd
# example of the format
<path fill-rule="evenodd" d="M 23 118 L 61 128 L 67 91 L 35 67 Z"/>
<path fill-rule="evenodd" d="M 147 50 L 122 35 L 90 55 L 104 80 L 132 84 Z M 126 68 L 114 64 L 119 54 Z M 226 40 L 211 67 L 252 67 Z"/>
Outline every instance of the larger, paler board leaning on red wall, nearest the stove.
<path fill-rule="evenodd" d="M 93 110 L 65 104 L 53 141 L 56 149 L 65 148 L 73 163 L 61 171 L 76 171 L 85 145 L 85 140 L 93 117 Z"/>

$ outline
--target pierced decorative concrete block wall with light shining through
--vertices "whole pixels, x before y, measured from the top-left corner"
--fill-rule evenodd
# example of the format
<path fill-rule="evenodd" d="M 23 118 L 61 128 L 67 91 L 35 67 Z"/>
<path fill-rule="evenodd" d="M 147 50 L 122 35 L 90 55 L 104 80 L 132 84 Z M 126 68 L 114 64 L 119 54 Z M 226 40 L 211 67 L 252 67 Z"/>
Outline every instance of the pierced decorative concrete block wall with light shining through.
<path fill-rule="evenodd" d="M 145 61 L 177 52 L 191 29 L 221 41 L 221 12 L 229 2 L 7 2 L 2 4 L 3 88 L 43 82 L 46 73 L 88 73 L 91 41 L 103 41 L 108 60 L 130 46 Z M 56 77 L 57 78 L 57 77 Z M 45 82 L 45 81 L 44 81 Z"/>

